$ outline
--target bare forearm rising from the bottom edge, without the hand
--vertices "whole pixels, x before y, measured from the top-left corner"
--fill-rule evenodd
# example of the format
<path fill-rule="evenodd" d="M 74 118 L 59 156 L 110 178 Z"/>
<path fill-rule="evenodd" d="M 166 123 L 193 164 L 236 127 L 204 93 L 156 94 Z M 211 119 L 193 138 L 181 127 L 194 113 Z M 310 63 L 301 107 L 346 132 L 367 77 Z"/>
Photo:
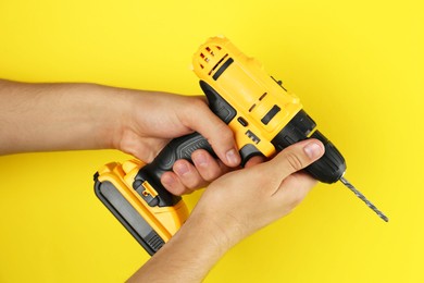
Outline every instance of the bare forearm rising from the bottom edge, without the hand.
<path fill-rule="evenodd" d="M 230 248 L 200 216 L 187 223 L 128 282 L 201 282 Z"/>

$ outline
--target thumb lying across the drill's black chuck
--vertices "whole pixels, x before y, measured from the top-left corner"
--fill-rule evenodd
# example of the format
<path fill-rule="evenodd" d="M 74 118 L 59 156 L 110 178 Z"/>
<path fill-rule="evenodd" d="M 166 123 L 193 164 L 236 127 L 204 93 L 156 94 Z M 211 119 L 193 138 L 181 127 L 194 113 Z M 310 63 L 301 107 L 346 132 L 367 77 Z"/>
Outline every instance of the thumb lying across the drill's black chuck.
<path fill-rule="evenodd" d="M 291 145 L 279 152 L 269 163 L 283 181 L 292 173 L 304 169 L 324 155 L 324 145 L 314 138 Z"/>

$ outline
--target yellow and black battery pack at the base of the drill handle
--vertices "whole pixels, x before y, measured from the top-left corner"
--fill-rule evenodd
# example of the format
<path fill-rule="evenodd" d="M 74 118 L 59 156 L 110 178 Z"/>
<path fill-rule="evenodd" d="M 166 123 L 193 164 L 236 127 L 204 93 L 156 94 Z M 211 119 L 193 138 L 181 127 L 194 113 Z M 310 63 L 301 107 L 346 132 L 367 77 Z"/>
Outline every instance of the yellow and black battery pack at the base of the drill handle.
<path fill-rule="evenodd" d="M 158 198 L 149 182 L 134 188 L 134 181 L 144 167 L 138 160 L 103 165 L 95 174 L 95 192 L 149 255 L 153 255 L 186 221 L 188 210 L 180 197 L 170 193 L 172 202 L 159 206 L 150 201 L 149 205 L 146 199 Z"/>

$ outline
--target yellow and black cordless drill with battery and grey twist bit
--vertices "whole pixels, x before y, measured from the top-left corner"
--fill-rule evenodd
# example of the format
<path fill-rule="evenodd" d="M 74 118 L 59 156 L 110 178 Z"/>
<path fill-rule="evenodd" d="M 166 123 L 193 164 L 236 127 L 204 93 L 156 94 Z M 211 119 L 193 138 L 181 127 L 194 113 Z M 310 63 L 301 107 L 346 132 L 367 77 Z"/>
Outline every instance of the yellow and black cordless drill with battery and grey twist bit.
<path fill-rule="evenodd" d="M 336 147 L 302 110 L 299 98 L 269 76 L 260 63 L 245 56 L 227 38 L 214 37 L 192 58 L 192 67 L 210 109 L 233 130 L 242 164 L 253 156 L 271 157 L 307 139 L 320 139 L 325 155 L 305 171 L 324 183 L 341 181 L 382 219 L 377 210 L 346 179 L 346 162 Z M 197 149 L 213 155 L 209 143 L 194 133 L 173 139 L 149 164 L 138 160 L 103 165 L 95 175 L 95 190 L 128 232 L 154 254 L 188 217 L 180 197 L 169 193 L 161 175 L 178 159 L 191 161 Z"/>

